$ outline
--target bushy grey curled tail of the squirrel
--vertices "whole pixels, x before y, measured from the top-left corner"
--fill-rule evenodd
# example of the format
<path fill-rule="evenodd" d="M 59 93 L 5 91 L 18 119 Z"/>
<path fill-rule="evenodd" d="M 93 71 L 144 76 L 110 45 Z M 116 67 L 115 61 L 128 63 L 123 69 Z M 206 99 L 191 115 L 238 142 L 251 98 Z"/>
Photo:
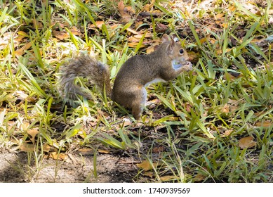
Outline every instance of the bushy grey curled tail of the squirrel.
<path fill-rule="evenodd" d="M 91 95 L 84 89 L 74 84 L 76 77 L 88 77 L 100 91 L 106 91 L 107 96 L 111 97 L 112 88 L 110 86 L 110 74 L 107 65 L 95 61 L 91 56 L 81 54 L 67 65 L 63 65 L 60 71 L 59 90 L 65 99 L 74 100 L 76 94 L 91 99 Z"/>

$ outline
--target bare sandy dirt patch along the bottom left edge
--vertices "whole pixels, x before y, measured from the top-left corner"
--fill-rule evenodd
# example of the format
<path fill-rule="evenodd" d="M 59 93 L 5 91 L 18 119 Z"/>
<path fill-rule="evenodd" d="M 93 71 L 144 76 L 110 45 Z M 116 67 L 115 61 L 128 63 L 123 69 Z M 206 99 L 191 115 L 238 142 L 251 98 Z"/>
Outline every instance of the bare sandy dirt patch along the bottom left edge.
<path fill-rule="evenodd" d="M 5 183 L 133 182 L 138 172 L 134 159 L 128 156 L 97 155 L 98 176 L 95 178 L 93 155 L 69 154 L 65 161 L 48 158 L 36 167 L 34 162 L 28 165 L 27 153 L 4 150 L 0 153 L 0 182 Z"/>

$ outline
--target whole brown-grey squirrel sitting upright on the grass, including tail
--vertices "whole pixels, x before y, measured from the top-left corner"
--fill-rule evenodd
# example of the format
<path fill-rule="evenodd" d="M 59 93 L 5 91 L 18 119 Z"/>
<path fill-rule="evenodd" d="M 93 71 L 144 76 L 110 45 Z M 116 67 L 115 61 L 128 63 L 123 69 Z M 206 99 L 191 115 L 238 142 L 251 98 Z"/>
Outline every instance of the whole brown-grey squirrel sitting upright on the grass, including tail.
<path fill-rule="evenodd" d="M 110 85 L 109 67 L 90 56 L 81 55 L 63 66 L 60 71 L 59 89 L 65 98 L 74 100 L 76 94 L 91 99 L 91 95 L 74 84 L 76 77 L 88 77 L 100 91 L 121 106 L 131 109 L 135 120 L 140 120 L 147 99 L 145 87 L 155 82 L 168 82 L 181 72 L 192 70 L 192 63 L 177 37 L 164 34 L 157 50 L 147 55 L 128 58 L 121 65 Z"/>

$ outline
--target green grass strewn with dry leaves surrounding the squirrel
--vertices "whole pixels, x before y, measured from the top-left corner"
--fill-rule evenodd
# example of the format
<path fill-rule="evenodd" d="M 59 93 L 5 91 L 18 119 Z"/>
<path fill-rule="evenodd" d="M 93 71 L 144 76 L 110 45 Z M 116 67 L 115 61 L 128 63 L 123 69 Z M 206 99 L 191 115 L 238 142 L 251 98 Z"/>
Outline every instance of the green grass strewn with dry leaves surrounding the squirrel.
<path fill-rule="evenodd" d="M 29 182 L 39 177 L 44 155 L 87 146 L 96 161 L 98 144 L 147 161 L 135 182 L 272 182 L 272 42 L 262 45 L 273 34 L 272 1 L 246 8 L 215 0 L 207 9 L 201 2 L 156 1 L 148 9 L 160 14 L 140 23 L 148 3 L 124 1 L 129 11 L 122 14 L 118 1 L 0 1 L 0 147 L 27 152 L 27 167 L 15 168 Z M 184 38 L 194 71 L 149 87 L 155 104 L 142 125 L 128 124 L 130 113 L 84 79 L 77 83 L 94 100 L 63 105 L 57 82 L 65 61 L 91 53 L 110 65 L 113 82 L 121 65 L 145 53 L 165 26 L 163 32 Z M 241 148 L 248 136 L 255 146 L 246 141 Z M 95 161 L 88 177 L 97 179 Z M 57 177 L 58 162 L 55 169 Z"/>

